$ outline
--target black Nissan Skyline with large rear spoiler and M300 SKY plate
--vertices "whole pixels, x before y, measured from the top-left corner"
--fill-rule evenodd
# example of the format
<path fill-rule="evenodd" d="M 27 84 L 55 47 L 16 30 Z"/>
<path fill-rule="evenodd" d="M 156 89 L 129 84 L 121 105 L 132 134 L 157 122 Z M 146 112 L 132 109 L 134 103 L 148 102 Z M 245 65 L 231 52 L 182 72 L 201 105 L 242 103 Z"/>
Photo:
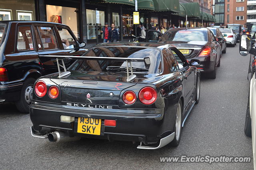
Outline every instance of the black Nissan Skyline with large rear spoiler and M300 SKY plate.
<path fill-rule="evenodd" d="M 56 59 L 58 72 L 34 85 L 34 137 L 132 141 L 138 149 L 178 146 L 199 102 L 200 61 L 188 62 L 173 45 L 106 43 L 82 57 L 47 57 Z M 77 60 L 66 68 L 63 59 Z"/>

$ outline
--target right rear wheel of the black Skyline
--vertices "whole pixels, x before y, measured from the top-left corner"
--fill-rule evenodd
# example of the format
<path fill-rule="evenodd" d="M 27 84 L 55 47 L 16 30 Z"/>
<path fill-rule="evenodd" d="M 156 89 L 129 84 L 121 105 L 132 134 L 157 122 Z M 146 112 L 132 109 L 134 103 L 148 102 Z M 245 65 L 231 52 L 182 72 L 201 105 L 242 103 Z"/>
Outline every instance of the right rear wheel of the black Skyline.
<path fill-rule="evenodd" d="M 178 115 L 178 117 L 177 117 Z M 182 132 L 182 102 L 178 102 L 178 106 L 176 109 L 176 118 L 174 122 L 174 128 L 173 132 L 175 132 L 175 137 L 170 143 L 172 147 L 177 147 L 180 143 L 180 137 L 181 137 L 181 132 Z"/>

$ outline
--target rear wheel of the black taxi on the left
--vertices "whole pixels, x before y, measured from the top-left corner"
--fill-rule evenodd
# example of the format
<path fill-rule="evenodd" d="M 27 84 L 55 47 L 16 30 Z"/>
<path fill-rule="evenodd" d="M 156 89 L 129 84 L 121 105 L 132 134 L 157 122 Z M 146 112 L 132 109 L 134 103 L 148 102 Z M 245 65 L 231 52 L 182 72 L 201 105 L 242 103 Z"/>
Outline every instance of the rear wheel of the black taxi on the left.
<path fill-rule="evenodd" d="M 36 79 L 28 78 L 25 80 L 20 93 L 20 100 L 15 102 L 18 111 L 22 113 L 29 113 L 29 106 L 32 102 L 32 92 L 34 89 L 34 82 Z"/>

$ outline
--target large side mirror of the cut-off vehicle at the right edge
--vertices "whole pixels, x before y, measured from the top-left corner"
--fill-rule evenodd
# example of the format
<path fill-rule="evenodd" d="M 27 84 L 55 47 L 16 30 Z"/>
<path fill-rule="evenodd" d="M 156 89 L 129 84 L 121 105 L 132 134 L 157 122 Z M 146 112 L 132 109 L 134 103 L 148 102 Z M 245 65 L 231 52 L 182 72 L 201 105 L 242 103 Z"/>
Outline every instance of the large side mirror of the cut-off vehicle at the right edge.
<path fill-rule="evenodd" d="M 246 56 L 252 48 L 252 35 L 242 34 L 240 37 L 239 52 L 240 55 Z"/>

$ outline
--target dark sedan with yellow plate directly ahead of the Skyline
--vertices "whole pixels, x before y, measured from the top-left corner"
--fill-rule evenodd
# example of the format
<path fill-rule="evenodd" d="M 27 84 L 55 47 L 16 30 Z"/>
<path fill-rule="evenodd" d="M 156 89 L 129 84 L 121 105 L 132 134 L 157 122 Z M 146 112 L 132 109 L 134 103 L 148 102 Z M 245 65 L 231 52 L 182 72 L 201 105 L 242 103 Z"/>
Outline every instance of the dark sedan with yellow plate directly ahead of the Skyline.
<path fill-rule="evenodd" d="M 200 60 L 198 66 L 200 72 L 205 72 L 208 78 L 216 78 L 216 69 L 220 66 L 222 38 L 216 40 L 212 31 L 208 28 L 173 28 L 164 34 L 155 30 L 149 30 L 146 41 L 151 41 L 149 33 L 160 37 L 158 43 L 172 44 L 177 47 L 188 61 Z M 151 33 L 152 35 L 152 33 Z"/>

